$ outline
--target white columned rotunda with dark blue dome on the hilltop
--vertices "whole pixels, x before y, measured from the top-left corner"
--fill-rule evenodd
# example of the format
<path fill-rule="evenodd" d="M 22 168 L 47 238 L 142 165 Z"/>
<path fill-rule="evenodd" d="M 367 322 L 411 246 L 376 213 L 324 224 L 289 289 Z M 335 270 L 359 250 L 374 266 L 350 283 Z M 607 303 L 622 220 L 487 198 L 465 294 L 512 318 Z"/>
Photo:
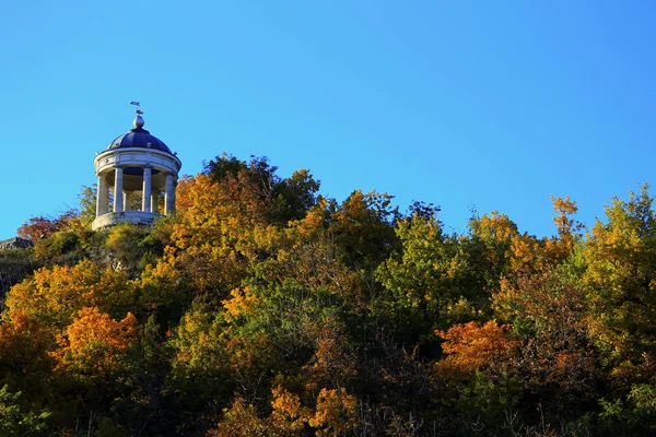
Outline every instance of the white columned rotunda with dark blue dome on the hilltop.
<path fill-rule="evenodd" d="M 96 218 L 93 229 L 119 223 L 151 225 L 175 211 L 175 187 L 183 166 L 176 153 L 143 129 L 138 102 L 134 129 L 112 141 L 94 160 Z M 162 204 L 160 204 L 162 203 Z"/>

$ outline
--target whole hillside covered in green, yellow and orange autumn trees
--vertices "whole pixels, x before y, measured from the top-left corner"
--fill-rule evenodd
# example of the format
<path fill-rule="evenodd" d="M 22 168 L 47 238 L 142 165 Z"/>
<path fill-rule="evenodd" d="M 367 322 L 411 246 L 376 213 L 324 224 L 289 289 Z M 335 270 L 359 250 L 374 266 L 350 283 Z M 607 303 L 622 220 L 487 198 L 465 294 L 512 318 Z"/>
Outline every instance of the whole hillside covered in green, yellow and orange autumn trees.
<path fill-rule="evenodd" d="M 0 250 L 0 435 L 656 432 L 647 187 L 558 235 L 222 155 L 154 227 L 33 217 Z"/>

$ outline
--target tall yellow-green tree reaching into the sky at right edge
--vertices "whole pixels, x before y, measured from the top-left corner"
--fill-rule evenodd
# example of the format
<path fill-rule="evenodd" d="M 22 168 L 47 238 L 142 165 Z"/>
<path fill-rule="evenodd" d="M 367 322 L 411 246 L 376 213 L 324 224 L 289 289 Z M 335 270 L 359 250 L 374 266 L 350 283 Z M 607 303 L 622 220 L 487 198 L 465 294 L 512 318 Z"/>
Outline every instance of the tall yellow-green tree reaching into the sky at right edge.
<path fill-rule="evenodd" d="M 656 353 L 656 215 L 648 186 L 613 199 L 584 244 L 591 333 L 610 365 Z"/>

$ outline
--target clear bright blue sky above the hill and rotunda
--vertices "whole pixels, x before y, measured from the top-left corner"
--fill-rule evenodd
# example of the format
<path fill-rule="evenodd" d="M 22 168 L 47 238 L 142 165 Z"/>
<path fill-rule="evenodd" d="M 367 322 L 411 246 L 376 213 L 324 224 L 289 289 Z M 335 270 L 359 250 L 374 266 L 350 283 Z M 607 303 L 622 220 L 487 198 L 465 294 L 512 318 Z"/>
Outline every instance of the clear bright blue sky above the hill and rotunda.
<path fill-rule="evenodd" d="M 3 1 L 0 40 L 0 239 L 77 205 L 131 101 L 184 174 L 266 155 L 457 232 L 656 180 L 651 1 Z"/>

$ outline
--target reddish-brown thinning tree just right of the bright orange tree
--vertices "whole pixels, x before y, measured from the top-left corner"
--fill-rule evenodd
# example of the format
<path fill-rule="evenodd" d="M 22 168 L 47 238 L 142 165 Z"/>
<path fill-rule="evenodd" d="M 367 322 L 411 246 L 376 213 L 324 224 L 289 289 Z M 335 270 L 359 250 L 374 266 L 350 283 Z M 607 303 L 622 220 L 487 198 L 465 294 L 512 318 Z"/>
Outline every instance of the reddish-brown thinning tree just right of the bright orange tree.
<path fill-rule="evenodd" d="M 520 275 L 503 281 L 494 296 L 497 315 L 512 322 L 518 341 L 504 373 L 522 383 L 525 420 L 534 425 L 572 423 L 596 409 L 601 375 L 578 273 L 579 267 L 563 264 Z M 531 413 L 540 404 L 542 417 L 537 417 Z"/>

